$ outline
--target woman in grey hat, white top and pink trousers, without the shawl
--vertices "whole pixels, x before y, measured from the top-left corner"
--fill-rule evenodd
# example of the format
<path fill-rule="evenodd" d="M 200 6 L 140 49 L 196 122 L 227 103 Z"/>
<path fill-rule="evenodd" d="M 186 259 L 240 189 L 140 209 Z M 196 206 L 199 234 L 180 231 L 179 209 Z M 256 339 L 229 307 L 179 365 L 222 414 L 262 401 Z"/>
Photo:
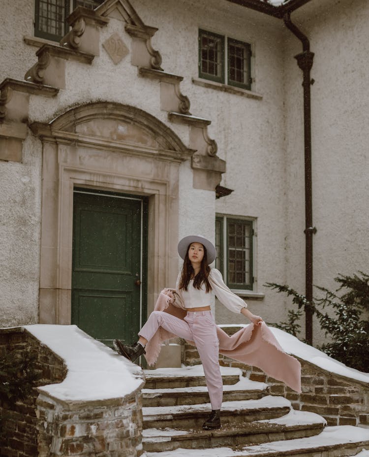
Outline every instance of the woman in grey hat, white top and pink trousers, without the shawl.
<path fill-rule="evenodd" d="M 124 345 L 120 340 L 114 340 L 114 346 L 119 354 L 134 361 L 145 353 L 146 343 L 159 326 L 185 340 L 193 341 L 204 367 L 212 405 L 212 413 L 202 427 L 204 430 L 213 430 L 220 428 L 223 395 L 218 338 L 210 308 L 214 296 L 228 309 L 242 313 L 255 325 L 261 325 L 263 320 L 252 314 L 245 301 L 230 291 L 218 270 L 210 268 L 209 264 L 215 260 L 216 250 L 209 240 L 198 235 L 186 236 L 178 244 L 178 253 L 184 264 L 178 275 L 173 304 L 187 311 L 184 320 L 163 311 L 153 311 L 139 331 L 139 340 L 135 345 Z"/>

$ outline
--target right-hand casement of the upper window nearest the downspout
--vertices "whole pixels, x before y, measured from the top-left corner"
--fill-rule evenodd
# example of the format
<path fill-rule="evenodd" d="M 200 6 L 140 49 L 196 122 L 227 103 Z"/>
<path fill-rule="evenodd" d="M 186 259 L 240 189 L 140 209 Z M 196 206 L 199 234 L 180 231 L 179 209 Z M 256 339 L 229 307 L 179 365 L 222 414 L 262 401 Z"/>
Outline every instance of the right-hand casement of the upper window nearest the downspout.
<path fill-rule="evenodd" d="M 228 38 L 228 84 L 251 90 L 251 45 Z"/>

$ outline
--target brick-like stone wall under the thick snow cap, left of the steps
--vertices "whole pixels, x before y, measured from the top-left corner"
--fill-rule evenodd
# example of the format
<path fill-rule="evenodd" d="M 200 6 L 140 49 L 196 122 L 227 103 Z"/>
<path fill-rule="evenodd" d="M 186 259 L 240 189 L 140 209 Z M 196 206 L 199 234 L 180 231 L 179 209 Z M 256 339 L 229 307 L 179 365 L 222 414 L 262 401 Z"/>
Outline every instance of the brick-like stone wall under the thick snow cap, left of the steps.
<path fill-rule="evenodd" d="M 0 358 L 11 352 L 37 354 L 36 385 L 60 383 L 63 360 L 21 327 L 0 329 Z M 0 398 L 1 457 L 136 457 L 142 454 L 141 386 L 123 398 L 62 401 L 34 389 L 25 401 L 10 405 Z"/>

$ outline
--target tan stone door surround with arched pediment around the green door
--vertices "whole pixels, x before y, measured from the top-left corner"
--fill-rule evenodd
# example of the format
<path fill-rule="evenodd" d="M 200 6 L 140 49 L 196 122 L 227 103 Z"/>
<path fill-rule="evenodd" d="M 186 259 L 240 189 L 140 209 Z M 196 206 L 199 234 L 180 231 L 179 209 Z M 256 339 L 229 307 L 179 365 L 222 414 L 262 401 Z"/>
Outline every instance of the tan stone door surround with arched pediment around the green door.
<path fill-rule="evenodd" d="M 155 294 L 176 279 L 179 166 L 193 151 L 152 115 L 110 102 L 70 109 L 31 129 L 42 141 L 39 322 L 71 323 L 76 188 L 147 200 L 151 312 Z"/>

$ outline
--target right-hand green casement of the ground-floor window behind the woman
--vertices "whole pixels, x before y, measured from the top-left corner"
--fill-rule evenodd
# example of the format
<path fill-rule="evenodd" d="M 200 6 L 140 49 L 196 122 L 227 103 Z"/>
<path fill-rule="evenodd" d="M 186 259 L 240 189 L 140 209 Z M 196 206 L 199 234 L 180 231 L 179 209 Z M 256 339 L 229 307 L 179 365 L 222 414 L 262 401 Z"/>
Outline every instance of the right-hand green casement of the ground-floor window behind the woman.
<path fill-rule="evenodd" d="M 231 289 L 252 290 L 252 221 L 227 218 L 227 284 Z"/>

